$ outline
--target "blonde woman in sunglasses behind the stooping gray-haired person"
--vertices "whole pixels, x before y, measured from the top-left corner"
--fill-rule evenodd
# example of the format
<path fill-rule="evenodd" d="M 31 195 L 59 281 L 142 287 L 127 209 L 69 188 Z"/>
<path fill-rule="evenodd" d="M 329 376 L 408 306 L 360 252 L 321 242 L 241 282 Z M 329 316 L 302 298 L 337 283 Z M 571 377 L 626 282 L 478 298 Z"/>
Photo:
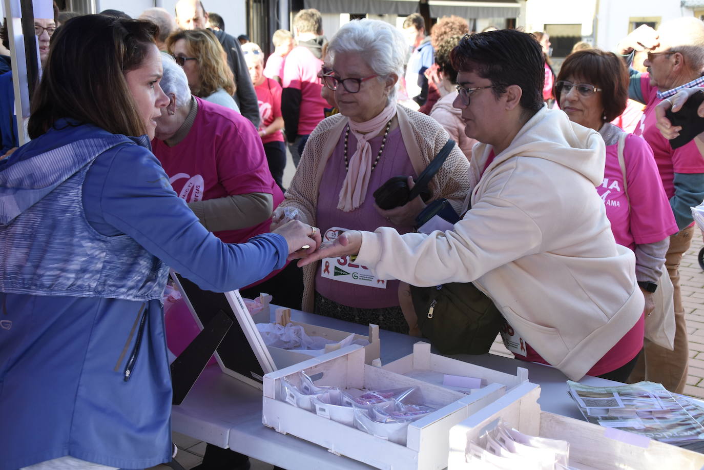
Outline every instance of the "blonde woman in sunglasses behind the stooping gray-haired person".
<path fill-rule="evenodd" d="M 180 30 L 166 39 L 169 54 L 183 67 L 196 97 L 239 112 L 234 76 L 218 38 L 208 30 Z"/>

